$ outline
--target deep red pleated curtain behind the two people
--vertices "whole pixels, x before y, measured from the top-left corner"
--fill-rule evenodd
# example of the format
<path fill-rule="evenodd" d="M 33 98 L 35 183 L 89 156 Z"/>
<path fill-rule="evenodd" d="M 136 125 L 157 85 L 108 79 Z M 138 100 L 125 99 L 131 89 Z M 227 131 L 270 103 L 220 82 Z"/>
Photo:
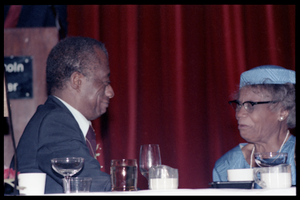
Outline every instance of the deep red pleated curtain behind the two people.
<path fill-rule="evenodd" d="M 205 188 L 215 161 L 244 142 L 227 101 L 240 74 L 295 70 L 294 5 L 70 5 L 69 36 L 105 43 L 115 96 L 93 121 L 103 171 L 159 144 L 179 188 Z M 140 172 L 138 187 L 147 188 Z"/>

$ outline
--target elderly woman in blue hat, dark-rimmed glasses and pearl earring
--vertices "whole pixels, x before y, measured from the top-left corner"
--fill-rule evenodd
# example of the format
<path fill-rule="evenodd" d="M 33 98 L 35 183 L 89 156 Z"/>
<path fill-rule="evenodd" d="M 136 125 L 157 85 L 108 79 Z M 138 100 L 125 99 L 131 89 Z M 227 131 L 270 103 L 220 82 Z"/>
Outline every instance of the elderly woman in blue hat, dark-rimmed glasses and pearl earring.
<path fill-rule="evenodd" d="M 292 185 L 296 185 L 296 137 L 289 129 L 296 127 L 295 71 L 263 65 L 241 74 L 234 107 L 241 143 L 225 153 L 213 169 L 213 181 L 228 181 L 227 170 L 257 167 L 254 153 L 288 153 Z M 256 186 L 257 187 L 257 186 Z"/>

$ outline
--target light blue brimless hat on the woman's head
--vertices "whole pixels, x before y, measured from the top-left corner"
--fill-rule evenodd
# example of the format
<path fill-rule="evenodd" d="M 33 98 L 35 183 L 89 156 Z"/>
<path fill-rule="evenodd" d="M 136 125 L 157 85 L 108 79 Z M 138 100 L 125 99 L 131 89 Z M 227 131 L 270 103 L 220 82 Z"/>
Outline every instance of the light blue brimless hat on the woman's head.
<path fill-rule="evenodd" d="M 276 65 L 262 65 L 241 74 L 240 88 L 256 84 L 296 84 L 296 72 Z"/>

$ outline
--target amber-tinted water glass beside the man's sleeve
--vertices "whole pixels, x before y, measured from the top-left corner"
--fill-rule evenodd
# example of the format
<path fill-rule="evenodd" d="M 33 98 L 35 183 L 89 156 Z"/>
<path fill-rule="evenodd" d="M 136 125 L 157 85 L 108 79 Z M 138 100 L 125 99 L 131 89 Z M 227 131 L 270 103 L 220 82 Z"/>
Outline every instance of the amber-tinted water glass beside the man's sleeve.
<path fill-rule="evenodd" d="M 137 190 L 136 159 L 112 160 L 110 166 L 112 191 Z"/>

